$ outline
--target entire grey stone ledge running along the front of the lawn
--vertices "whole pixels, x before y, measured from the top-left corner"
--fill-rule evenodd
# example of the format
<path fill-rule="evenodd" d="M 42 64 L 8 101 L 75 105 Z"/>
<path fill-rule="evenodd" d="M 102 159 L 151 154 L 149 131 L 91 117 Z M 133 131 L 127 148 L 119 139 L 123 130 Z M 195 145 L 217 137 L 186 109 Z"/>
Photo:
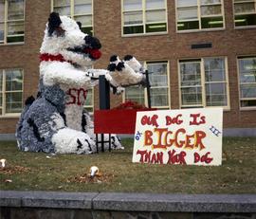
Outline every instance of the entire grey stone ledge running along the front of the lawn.
<path fill-rule="evenodd" d="M 0 207 L 112 211 L 256 212 L 256 194 L 0 191 Z"/>

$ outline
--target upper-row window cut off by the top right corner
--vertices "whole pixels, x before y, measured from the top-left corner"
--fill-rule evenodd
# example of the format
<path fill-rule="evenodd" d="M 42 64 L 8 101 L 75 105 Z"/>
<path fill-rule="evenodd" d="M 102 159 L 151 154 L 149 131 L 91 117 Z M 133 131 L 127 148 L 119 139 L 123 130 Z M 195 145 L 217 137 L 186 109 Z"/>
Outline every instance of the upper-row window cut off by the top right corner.
<path fill-rule="evenodd" d="M 256 27 L 256 0 L 234 0 L 235 27 Z"/>

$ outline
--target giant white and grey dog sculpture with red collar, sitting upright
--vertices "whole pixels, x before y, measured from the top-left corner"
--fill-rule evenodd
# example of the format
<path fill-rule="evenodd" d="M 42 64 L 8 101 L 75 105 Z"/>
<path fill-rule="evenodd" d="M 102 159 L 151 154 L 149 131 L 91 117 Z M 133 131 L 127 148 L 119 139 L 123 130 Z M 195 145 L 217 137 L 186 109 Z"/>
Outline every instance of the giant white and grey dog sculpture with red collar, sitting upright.
<path fill-rule="evenodd" d="M 115 92 L 143 81 L 141 65 L 132 56 L 112 56 L 108 70 L 90 69 L 101 57 L 101 43 L 84 34 L 74 20 L 52 12 L 41 46 L 38 97 L 28 98 L 17 124 L 22 151 L 91 154 L 96 151 L 93 122 L 82 105 L 87 90 L 105 78 Z M 115 139 L 114 139 L 115 140 Z"/>

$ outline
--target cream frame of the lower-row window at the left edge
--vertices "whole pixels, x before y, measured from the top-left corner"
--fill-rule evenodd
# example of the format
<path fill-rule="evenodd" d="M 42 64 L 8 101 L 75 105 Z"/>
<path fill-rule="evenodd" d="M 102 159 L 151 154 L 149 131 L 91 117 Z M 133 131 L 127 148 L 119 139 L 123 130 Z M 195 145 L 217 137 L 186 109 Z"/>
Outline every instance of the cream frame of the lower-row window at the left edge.
<path fill-rule="evenodd" d="M 20 70 L 22 72 L 22 77 L 23 77 L 23 83 L 22 83 L 22 90 L 15 90 L 15 91 L 8 91 L 6 90 L 6 71 L 7 70 Z M 2 81 L 2 105 L 0 106 L 0 108 L 2 109 L 2 113 L 0 114 L 0 118 L 17 118 L 20 117 L 22 111 L 20 113 L 6 113 L 6 96 L 7 93 L 15 93 L 15 92 L 22 92 L 22 108 L 24 106 L 23 100 L 24 100 L 24 69 L 20 68 L 20 67 L 15 67 L 15 68 L 4 68 L 4 69 L 0 69 L 0 71 L 2 71 L 3 73 L 3 81 Z"/>

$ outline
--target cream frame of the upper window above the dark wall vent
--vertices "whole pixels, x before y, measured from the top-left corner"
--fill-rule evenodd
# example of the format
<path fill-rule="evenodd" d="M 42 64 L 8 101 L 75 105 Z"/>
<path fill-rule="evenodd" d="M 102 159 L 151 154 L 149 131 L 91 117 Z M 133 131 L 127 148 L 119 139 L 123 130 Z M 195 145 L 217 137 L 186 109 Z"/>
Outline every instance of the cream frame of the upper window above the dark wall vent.
<path fill-rule="evenodd" d="M 188 33 L 188 32 L 201 32 L 201 31 L 220 31 L 220 30 L 225 30 L 226 29 L 226 20 L 225 20 L 225 9 L 224 9 L 224 0 L 220 0 L 221 3 L 213 3 L 213 4 L 205 4 L 203 6 L 217 6 L 217 5 L 221 5 L 221 15 L 223 17 L 223 27 L 211 27 L 211 28 L 202 28 L 202 22 L 201 19 L 204 17 L 218 17 L 217 15 L 201 15 L 201 4 L 200 4 L 200 0 L 197 0 L 197 18 L 198 18 L 198 28 L 196 29 L 182 29 L 182 30 L 178 30 L 178 22 L 182 21 L 182 20 L 178 20 L 178 4 L 177 4 L 178 0 L 175 0 L 175 29 L 177 33 Z M 186 7 L 182 7 L 182 8 L 192 8 L 194 6 L 186 6 Z M 193 19 L 191 20 L 185 20 L 185 21 L 193 21 Z M 194 20 L 196 21 L 196 20 Z"/>

